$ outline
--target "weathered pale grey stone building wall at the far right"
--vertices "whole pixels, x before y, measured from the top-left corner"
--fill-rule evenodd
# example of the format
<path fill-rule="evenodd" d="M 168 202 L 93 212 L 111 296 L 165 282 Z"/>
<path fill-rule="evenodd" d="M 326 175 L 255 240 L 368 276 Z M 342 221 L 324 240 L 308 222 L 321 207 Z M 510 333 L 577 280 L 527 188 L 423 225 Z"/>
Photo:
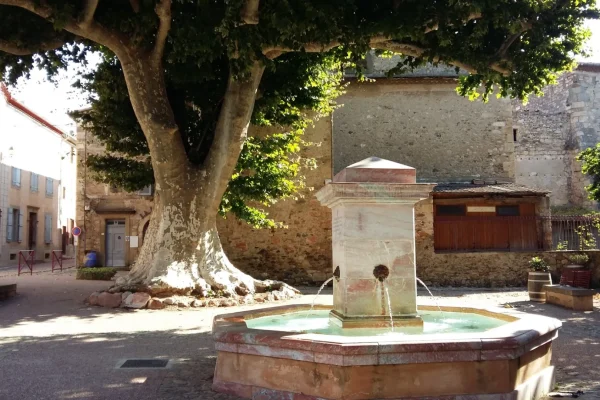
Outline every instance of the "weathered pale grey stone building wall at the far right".
<path fill-rule="evenodd" d="M 513 102 L 516 181 L 552 192 L 555 206 L 596 207 L 575 157 L 600 142 L 600 66 L 582 64 L 528 104 Z"/>

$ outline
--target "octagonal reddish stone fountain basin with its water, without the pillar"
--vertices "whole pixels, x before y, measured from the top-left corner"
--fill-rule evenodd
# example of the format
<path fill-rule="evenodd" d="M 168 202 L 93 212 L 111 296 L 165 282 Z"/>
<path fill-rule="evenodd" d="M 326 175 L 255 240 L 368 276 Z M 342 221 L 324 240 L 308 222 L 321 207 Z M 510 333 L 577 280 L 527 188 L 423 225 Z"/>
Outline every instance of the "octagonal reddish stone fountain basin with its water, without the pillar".
<path fill-rule="evenodd" d="M 340 328 L 330 306 L 218 315 L 213 389 L 255 400 L 538 399 L 560 321 L 419 307 L 422 327 Z"/>

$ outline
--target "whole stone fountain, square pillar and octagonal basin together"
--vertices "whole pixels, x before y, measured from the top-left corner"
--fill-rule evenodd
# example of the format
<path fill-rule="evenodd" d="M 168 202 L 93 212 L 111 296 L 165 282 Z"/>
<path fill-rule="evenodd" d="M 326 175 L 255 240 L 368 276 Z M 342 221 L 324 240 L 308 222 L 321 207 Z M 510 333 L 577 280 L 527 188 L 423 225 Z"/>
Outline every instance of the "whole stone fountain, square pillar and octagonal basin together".
<path fill-rule="evenodd" d="M 415 177 L 372 157 L 317 193 L 333 211 L 333 307 L 216 316 L 214 390 L 255 400 L 530 400 L 552 389 L 558 320 L 417 309 L 414 204 L 432 185 Z"/>

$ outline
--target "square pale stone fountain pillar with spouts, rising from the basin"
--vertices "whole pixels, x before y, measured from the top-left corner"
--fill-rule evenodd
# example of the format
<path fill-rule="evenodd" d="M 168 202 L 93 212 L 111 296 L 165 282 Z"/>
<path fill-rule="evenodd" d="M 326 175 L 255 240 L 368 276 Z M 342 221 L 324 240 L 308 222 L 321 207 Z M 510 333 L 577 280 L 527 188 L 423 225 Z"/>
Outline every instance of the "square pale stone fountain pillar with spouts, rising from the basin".
<path fill-rule="evenodd" d="M 333 214 L 334 321 L 343 327 L 385 327 L 391 314 L 394 326 L 422 324 L 414 205 L 434 186 L 417 184 L 414 168 L 370 157 L 317 192 Z"/>

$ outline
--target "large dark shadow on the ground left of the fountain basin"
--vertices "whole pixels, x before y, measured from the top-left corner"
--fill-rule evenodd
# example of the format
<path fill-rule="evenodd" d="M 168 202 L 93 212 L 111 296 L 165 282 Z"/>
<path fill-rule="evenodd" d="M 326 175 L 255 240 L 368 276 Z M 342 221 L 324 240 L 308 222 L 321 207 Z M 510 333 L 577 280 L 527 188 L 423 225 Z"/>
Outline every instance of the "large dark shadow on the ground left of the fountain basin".
<path fill-rule="evenodd" d="M 125 359 L 164 358 L 169 369 L 120 369 Z M 210 390 L 207 332 L 0 338 L 1 399 L 234 399 Z"/>

